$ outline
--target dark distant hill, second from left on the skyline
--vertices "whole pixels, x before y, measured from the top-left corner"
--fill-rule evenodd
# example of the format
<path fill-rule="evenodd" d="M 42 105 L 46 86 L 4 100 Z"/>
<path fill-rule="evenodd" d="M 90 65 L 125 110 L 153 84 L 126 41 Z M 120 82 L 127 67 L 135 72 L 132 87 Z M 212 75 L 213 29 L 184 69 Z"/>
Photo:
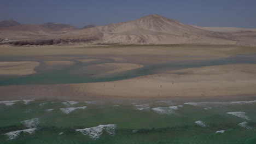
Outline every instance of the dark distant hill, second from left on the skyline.
<path fill-rule="evenodd" d="M 77 27 L 74 27 L 72 25 L 66 25 L 63 23 L 54 23 L 54 22 L 44 23 L 42 26 L 50 29 L 51 31 L 74 31 L 78 29 Z"/>

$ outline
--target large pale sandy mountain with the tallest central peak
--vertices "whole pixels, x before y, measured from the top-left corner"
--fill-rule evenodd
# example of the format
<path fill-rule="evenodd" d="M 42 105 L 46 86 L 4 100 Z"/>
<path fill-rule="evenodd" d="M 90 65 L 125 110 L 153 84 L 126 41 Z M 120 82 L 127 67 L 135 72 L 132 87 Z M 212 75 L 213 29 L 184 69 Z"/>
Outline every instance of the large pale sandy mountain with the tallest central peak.
<path fill-rule="evenodd" d="M 160 15 L 134 21 L 80 29 L 59 35 L 63 39 L 98 39 L 96 43 L 119 44 L 235 44 L 224 33 L 206 31 Z"/>

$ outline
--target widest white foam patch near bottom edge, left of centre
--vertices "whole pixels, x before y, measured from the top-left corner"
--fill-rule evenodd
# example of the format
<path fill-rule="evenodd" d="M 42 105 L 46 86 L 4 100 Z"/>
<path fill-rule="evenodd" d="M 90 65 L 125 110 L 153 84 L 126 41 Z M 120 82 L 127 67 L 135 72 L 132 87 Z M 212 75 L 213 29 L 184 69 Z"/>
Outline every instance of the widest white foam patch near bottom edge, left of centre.
<path fill-rule="evenodd" d="M 115 135 L 115 128 L 117 125 L 115 124 L 107 124 L 107 125 L 98 125 L 97 127 L 85 128 L 85 129 L 76 129 L 84 135 L 88 135 L 91 139 L 98 139 L 100 135 L 102 135 L 103 130 L 106 131 L 109 135 Z"/>

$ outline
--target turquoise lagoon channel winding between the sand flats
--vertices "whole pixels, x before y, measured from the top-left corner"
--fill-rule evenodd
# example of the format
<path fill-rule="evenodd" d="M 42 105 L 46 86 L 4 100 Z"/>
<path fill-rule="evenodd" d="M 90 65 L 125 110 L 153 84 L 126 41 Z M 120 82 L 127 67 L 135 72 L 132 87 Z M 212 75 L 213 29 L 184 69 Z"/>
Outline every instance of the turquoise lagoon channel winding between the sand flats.
<path fill-rule="evenodd" d="M 48 68 L 44 63 L 41 63 L 36 68 L 37 74 L 26 76 L 0 76 L 0 86 L 5 85 L 28 85 L 28 84 L 58 84 L 58 83 L 86 83 L 86 82 L 106 82 L 130 79 L 132 77 L 138 77 L 149 74 L 157 74 L 166 70 L 184 69 L 205 67 L 212 65 L 225 65 L 225 64 L 252 64 L 256 63 L 256 55 L 237 55 L 217 60 L 197 60 L 197 61 L 180 61 L 180 62 L 168 62 L 155 65 L 145 65 L 145 67 L 127 70 L 122 73 L 95 76 L 98 73 L 106 71 L 106 69 L 86 69 L 88 65 L 113 63 L 108 59 L 102 59 L 102 61 L 96 61 L 91 63 L 82 63 L 74 61 L 75 64 L 68 67 L 61 68 Z"/>

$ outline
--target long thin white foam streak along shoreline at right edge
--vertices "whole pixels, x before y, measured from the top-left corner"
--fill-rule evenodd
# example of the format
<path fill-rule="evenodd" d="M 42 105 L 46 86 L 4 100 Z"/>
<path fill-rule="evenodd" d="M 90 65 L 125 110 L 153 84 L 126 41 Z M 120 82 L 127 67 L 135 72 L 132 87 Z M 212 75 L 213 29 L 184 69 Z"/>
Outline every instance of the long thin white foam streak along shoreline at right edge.
<path fill-rule="evenodd" d="M 251 100 L 251 101 L 226 101 L 226 102 L 210 102 L 210 101 L 205 101 L 205 102 L 194 102 L 194 103 L 184 103 L 187 105 L 194 105 L 194 106 L 203 106 L 207 107 L 209 105 L 232 105 L 232 104 L 254 104 L 256 103 L 256 100 Z"/>

